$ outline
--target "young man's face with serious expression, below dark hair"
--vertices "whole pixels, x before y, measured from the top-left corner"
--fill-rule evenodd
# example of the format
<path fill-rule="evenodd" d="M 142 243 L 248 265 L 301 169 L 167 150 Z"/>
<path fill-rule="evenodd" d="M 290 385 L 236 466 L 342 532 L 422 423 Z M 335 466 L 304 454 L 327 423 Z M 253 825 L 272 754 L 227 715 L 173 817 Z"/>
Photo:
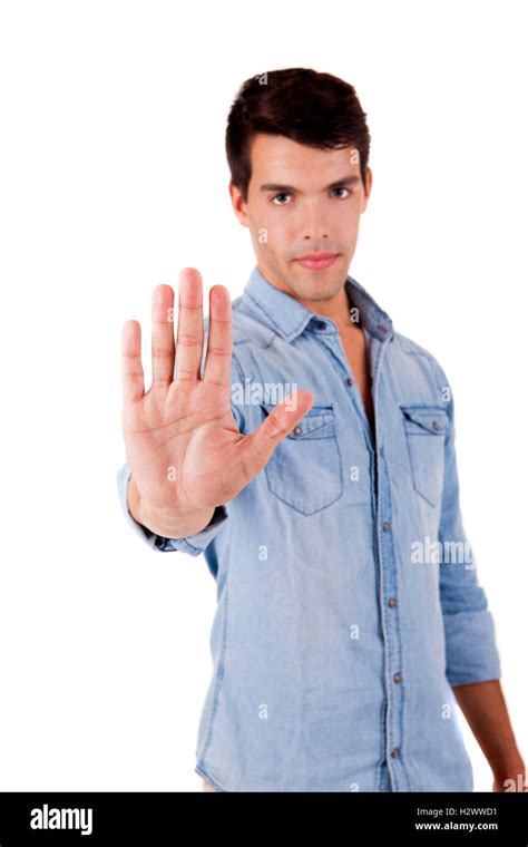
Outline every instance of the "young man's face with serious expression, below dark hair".
<path fill-rule="evenodd" d="M 233 208 L 248 226 L 262 274 L 299 300 L 331 300 L 343 288 L 355 251 L 366 191 L 353 147 L 322 150 L 284 136 L 253 139 L 247 203 L 229 184 Z M 331 253 L 313 263 L 306 254 Z"/>

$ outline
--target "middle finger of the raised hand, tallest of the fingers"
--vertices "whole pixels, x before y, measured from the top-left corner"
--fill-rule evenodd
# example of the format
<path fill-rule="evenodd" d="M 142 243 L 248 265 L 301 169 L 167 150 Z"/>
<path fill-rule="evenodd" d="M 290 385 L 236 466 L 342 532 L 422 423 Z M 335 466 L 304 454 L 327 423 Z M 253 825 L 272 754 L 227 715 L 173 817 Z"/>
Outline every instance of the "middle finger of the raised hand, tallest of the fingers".
<path fill-rule="evenodd" d="M 204 352 L 202 276 L 185 267 L 178 284 L 178 333 L 176 337 L 176 382 L 195 382 Z"/>

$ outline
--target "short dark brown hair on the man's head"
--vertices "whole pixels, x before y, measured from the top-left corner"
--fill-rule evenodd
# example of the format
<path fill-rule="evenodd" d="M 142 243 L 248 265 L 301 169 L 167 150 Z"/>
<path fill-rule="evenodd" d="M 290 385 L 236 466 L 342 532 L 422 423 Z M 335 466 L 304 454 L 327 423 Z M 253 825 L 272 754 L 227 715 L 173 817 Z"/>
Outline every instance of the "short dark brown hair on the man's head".
<path fill-rule="evenodd" d="M 231 182 L 244 202 L 251 179 L 251 143 L 258 133 L 282 135 L 322 149 L 354 147 L 366 188 L 370 133 L 353 86 L 310 68 L 271 70 L 242 84 L 227 118 Z"/>

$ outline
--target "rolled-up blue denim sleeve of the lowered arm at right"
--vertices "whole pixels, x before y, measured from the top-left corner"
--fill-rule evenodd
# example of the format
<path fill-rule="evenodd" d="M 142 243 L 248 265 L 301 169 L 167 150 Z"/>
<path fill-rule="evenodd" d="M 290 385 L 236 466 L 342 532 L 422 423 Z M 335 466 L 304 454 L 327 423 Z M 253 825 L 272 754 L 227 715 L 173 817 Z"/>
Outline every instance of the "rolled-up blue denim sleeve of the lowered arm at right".
<path fill-rule="evenodd" d="M 486 592 L 479 584 L 477 565 L 466 536 L 460 513 L 460 493 L 454 448 L 454 409 L 452 393 L 448 405 L 446 429 L 444 483 L 439 525 L 440 602 L 446 634 L 446 675 L 451 685 L 497 680 L 501 675 L 495 623 Z M 462 555 L 447 556 L 448 551 Z M 447 561 L 448 559 L 448 561 Z"/>

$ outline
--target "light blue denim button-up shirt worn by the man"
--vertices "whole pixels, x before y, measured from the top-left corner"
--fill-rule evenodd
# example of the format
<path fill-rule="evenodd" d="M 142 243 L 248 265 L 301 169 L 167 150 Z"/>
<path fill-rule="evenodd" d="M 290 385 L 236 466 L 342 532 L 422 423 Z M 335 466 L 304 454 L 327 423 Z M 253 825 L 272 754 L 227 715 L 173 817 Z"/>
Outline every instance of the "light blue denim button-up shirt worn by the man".
<path fill-rule="evenodd" d="M 233 415 L 251 432 L 273 384 L 314 406 L 203 532 L 135 522 L 126 464 L 121 505 L 153 549 L 204 553 L 216 580 L 197 773 L 223 791 L 471 791 L 451 685 L 498 679 L 500 662 L 460 514 L 451 388 L 345 285 L 375 437 L 336 324 L 255 266 L 233 303 Z"/>

